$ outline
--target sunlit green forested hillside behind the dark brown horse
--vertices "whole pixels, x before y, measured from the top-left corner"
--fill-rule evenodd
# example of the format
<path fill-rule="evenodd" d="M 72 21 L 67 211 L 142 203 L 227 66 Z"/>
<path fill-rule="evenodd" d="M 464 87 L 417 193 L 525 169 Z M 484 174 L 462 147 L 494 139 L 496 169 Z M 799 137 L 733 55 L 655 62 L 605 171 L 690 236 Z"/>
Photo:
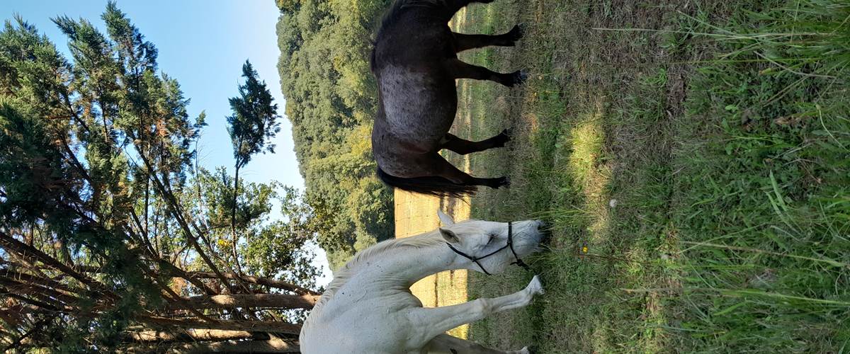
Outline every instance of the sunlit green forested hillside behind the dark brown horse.
<path fill-rule="evenodd" d="M 296 5 L 297 4 L 297 5 Z M 331 267 L 393 237 L 392 190 L 375 177 L 369 144 L 376 84 L 369 39 L 383 1 L 279 1 L 280 87 L 307 200 Z"/>

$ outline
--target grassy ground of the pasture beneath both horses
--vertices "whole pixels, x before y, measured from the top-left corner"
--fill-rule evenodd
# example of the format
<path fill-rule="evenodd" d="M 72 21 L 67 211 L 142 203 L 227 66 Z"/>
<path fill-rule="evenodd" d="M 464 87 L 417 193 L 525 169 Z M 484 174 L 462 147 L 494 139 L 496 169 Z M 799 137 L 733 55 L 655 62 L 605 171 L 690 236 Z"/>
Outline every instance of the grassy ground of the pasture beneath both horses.
<path fill-rule="evenodd" d="M 470 337 L 540 352 L 850 352 L 850 2 L 497 0 L 453 21 L 525 68 L 461 81 L 457 134 L 507 149 L 464 160 L 472 216 L 553 224 L 546 295 Z M 470 274 L 470 298 L 530 273 Z"/>

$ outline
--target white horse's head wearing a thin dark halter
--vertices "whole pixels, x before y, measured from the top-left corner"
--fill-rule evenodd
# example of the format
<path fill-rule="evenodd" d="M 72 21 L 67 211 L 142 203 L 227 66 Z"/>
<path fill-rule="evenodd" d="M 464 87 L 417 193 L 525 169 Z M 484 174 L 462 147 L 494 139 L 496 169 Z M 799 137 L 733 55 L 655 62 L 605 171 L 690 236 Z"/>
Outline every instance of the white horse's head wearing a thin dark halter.
<path fill-rule="evenodd" d="M 443 227 L 439 228 L 448 248 L 469 262 L 468 269 L 481 273 L 501 273 L 537 250 L 545 232 L 543 222 L 454 222 L 443 211 L 437 211 Z"/>

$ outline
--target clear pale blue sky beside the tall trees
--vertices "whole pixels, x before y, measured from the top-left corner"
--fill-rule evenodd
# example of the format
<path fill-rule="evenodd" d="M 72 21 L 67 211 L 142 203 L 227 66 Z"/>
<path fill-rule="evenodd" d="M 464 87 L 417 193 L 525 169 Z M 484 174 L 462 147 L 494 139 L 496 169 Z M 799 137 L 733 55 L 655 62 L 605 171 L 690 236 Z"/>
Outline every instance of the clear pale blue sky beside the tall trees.
<path fill-rule="evenodd" d="M 14 14 L 20 14 L 70 58 L 67 38 L 50 19 L 58 15 L 83 18 L 103 30 L 100 14 L 106 3 L 106 0 L 3 0 L 0 17 L 12 19 Z M 280 93 L 276 67 L 280 52 L 275 24 L 279 13 L 274 0 L 119 0 L 117 4 L 144 37 L 156 45 L 160 70 L 176 78 L 185 97 L 191 99 L 189 114 L 196 117 L 201 110 L 207 111 L 209 126 L 199 146 L 201 165 L 210 170 L 227 166 L 232 174 L 233 150 L 224 117 L 230 114 L 228 98 L 237 94 L 246 59 L 251 60 L 260 78 L 266 81 L 280 115 L 286 104 Z M 255 156 L 240 171 L 240 177 L 258 183 L 276 180 L 303 189 L 303 178 L 292 151 L 292 126 L 285 117 L 280 119 L 280 133 L 274 143 L 275 154 Z M 318 250 L 316 258 L 326 267 L 324 252 Z M 326 280 L 320 279 L 319 283 L 326 284 Z"/>

